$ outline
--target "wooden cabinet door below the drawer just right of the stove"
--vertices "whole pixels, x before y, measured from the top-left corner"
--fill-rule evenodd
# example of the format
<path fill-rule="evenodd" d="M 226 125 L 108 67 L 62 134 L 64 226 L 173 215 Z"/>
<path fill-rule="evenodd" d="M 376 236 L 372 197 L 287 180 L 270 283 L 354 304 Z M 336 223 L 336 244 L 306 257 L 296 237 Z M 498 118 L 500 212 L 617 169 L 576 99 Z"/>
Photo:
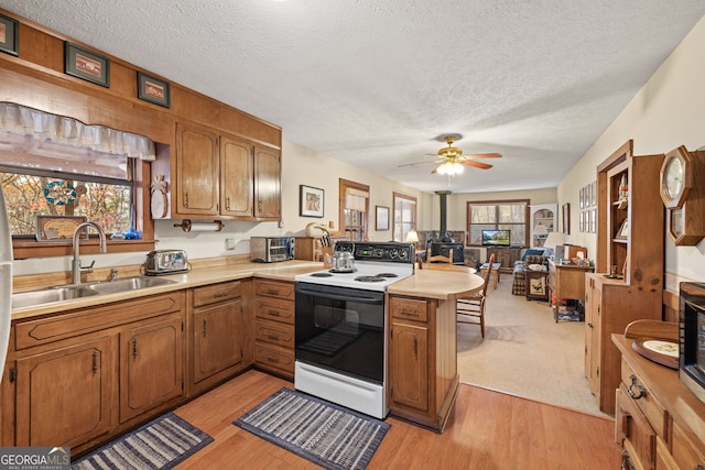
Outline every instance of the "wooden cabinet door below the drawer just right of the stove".
<path fill-rule="evenodd" d="M 391 400 L 429 411 L 429 328 L 393 323 L 390 353 Z"/>

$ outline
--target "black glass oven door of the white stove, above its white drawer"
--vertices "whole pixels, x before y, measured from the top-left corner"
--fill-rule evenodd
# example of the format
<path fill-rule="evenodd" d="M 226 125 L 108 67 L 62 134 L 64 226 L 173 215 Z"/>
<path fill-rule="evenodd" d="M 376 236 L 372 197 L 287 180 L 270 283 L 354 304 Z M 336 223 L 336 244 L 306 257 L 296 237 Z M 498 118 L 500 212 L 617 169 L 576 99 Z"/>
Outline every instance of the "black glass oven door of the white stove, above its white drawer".
<path fill-rule="evenodd" d="M 296 361 L 378 384 L 384 379 L 384 293 L 297 282 Z"/>

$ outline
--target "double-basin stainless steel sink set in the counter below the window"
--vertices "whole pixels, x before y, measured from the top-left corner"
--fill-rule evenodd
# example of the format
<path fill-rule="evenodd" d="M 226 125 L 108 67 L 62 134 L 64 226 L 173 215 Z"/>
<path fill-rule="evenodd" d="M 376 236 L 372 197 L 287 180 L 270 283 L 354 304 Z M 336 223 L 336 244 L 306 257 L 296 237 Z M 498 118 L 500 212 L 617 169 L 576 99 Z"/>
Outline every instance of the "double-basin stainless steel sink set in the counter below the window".
<path fill-rule="evenodd" d="M 34 307 L 56 302 L 74 300 L 94 295 L 119 294 L 139 291 L 147 287 L 174 284 L 176 281 L 162 277 L 126 277 L 115 281 L 101 281 L 84 284 L 69 284 L 37 291 L 18 292 L 12 294 L 12 308 Z"/>

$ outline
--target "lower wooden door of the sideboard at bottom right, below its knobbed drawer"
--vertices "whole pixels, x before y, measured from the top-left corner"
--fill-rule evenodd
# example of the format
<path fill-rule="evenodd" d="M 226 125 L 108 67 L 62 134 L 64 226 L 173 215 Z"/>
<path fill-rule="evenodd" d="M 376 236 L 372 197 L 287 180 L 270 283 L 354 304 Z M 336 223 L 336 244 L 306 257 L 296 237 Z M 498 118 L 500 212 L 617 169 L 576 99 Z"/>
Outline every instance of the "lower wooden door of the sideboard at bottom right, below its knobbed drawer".
<path fill-rule="evenodd" d="M 629 451 L 629 458 L 640 464 L 638 468 L 652 469 L 657 457 L 657 435 L 623 383 L 617 393 L 615 425 L 617 436 L 625 439 L 622 446 Z"/>

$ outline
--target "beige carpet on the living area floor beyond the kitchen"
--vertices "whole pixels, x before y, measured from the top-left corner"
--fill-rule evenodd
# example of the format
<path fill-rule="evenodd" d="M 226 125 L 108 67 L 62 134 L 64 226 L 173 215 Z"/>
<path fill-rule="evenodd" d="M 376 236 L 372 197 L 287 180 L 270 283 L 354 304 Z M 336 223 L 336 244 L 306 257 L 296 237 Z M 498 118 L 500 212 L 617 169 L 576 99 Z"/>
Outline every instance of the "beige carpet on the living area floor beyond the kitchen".
<path fill-rule="evenodd" d="M 512 278 L 491 282 L 479 326 L 458 324 L 460 381 L 604 415 L 584 373 L 585 324 L 553 320 L 546 302 L 511 294 Z"/>

